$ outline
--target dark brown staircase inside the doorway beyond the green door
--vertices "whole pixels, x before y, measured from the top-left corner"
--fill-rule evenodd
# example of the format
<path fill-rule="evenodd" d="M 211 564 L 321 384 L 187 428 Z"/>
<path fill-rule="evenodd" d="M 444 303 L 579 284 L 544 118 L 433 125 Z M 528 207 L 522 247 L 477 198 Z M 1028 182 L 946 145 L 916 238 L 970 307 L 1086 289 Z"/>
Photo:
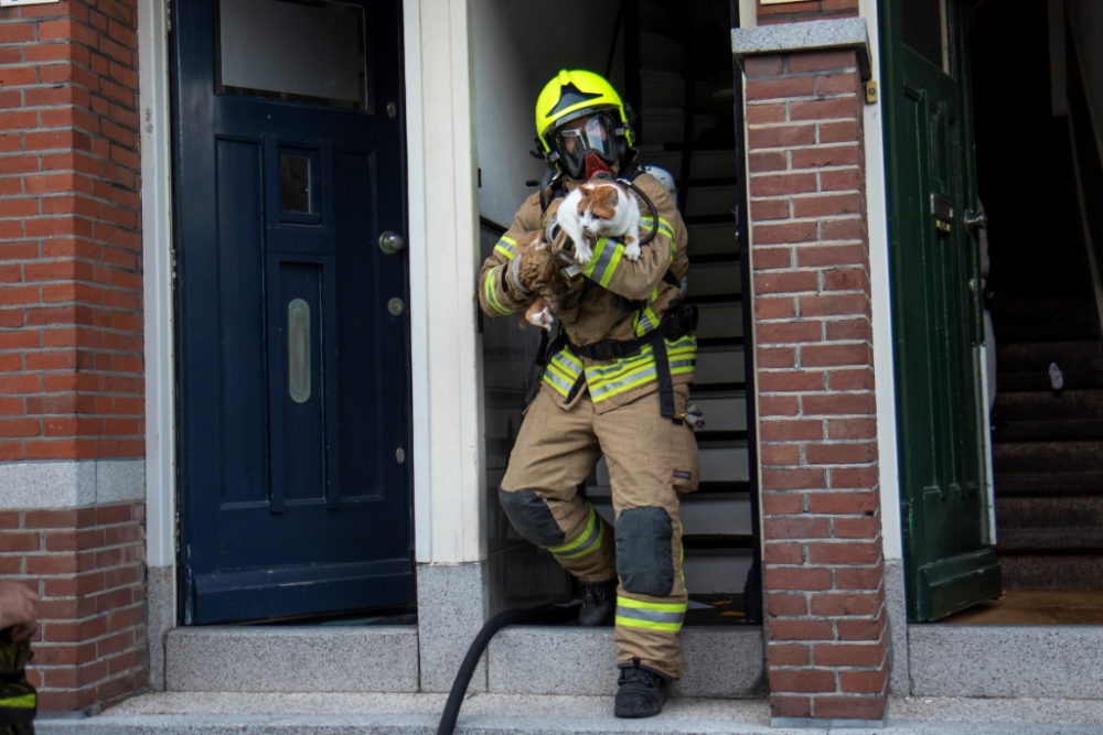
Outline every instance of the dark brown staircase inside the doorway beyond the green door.
<path fill-rule="evenodd" d="M 1045 133 L 1045 163 L 1028 158 L 1017 173 L 1034 181 L 1031 195 L 1043 199 L 1035 206 L 1046 212 L 1045 229 L 996 227 L 996 215 L 1013 216 L 1015 193 L 1002 196 L 1003 213 L 989 210 L 999 391 L 993 409 L 996 550 L 1008 588 L 1099 590 L 1103 342 L 1067 122 L 1053 120 Z M 1059 390 L 1050 380 L 1053 363 L 1063 374 Z"/>

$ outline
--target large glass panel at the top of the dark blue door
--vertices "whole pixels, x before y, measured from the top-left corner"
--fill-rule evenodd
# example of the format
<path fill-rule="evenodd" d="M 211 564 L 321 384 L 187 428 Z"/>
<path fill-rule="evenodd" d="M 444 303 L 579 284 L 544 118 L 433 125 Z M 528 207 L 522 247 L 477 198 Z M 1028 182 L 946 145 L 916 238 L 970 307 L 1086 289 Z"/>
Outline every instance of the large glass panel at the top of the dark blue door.
<path fill-rule="evenodd" d="M 364 9 L 219 0 L 218 90 L 366 109 Z"/>

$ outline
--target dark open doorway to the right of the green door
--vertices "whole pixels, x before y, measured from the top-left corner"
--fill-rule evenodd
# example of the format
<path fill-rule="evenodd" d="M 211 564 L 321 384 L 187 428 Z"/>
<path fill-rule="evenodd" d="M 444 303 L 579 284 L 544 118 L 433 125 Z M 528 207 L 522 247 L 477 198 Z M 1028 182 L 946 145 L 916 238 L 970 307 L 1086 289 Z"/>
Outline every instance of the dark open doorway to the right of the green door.
<path fill-rule="evenodd" d="M 951 621 L 1103 624 L 1103 292 L 1088 205 L 1100 196 L 1100 149 L 1082 45 L 1099 28 L 1077 13 L 1083 4 L 970 11 L 1006 594 Z"/>

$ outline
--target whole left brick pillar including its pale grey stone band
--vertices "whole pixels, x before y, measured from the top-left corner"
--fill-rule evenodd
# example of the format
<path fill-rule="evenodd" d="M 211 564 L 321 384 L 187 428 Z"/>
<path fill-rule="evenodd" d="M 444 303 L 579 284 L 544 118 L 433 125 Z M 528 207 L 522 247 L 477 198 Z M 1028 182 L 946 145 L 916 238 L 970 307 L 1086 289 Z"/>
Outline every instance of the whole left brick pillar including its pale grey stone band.
<path fill-rule="evenodd" d="M 135 0 L 0 9 L 0 574 L 40 709 L 144 685 Z"/>

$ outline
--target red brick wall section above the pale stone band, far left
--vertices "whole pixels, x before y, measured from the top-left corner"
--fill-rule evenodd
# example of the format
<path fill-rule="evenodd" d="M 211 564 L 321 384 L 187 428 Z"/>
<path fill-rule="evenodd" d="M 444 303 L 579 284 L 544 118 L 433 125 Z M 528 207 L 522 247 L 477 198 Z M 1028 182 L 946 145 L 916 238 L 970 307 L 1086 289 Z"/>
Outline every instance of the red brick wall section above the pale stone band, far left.
<path fill-rule="evenodd" d="M 143 453 L 135 8 L 0 9 L 0 461 Z"/>

